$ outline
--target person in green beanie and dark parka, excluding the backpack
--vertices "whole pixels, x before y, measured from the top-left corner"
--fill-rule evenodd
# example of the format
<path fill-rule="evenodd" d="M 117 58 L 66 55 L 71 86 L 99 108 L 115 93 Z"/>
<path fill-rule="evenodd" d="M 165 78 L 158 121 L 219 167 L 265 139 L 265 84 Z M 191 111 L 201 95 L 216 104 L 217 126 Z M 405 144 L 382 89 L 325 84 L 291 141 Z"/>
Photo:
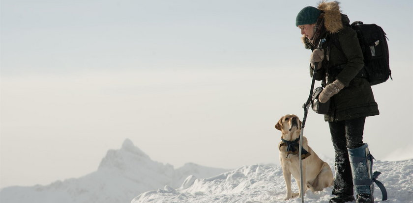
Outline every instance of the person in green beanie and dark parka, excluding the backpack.
<path fill-rule="evenodd" d="M 349 23 L 348 17 L 340 13 L 337 1 L 322 1 L 318 8 L 303 8 L 296 17 L 295 25 L 301 29 L 306 49 L 313 51 L 310 76 L 318 63 L 315 78 L 322 80 L 325 87 L 319 101 L 330 100 L 329 111 L 324 115 L 335 150 L 333 195 L 336 197 L 330 203 L 353 201 L 354 190 L 357 203 L 373 203 L 373 185 L 358 185 L 354 181 L 360 176 L 354 171 L 360 169 L 355 161 L 350 161 L 355 160 L 352 155 L 349 160 L 349 152 L 353 154 L 354 150 L 363 149 L 366 157 L 368 149 L 361 148 L 367 145 L 363 143 L 364 121 L 367 116 L 379 115 L 379 109 L 370 83 L 362 76 L 363 54 L 356 32 L 347 26 Z M 316 47 L 321 39 L 325 42 L 318 50 Z M 363 173 L 371 178 L 371 169 L 368 168 Z"/>

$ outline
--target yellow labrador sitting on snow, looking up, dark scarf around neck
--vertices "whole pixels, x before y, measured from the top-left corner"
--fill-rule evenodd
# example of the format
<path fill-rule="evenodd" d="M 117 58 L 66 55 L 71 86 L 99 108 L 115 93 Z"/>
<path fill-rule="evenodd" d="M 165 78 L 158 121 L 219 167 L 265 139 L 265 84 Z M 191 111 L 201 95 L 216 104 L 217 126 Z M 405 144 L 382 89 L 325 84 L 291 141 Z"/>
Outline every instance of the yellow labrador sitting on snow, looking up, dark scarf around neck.
<path fill-rule="evenodd" d="M 288 114 L 278 121 L 275 128 L 281 130 L 281 142 L 278 145 L 280 150 L 280 162 L 283 169 L 285 186 L 287 193 L 285 200 L 301 197 L 300 194 L 300 168 L 298 160 L 298 146 L 301 132 L 301 121 L 297 116 Z M 333 173 L 330 166 L 321 160 L 316 152 L 307 145 L 307 138 L 302 140 L 302 171 L 304 182 L 304 194 L 307 189 L 311 191 L 321 191 L 333 183 Z M 291 192 L 291 175 L 298 184 L 298 193 Z"/>

